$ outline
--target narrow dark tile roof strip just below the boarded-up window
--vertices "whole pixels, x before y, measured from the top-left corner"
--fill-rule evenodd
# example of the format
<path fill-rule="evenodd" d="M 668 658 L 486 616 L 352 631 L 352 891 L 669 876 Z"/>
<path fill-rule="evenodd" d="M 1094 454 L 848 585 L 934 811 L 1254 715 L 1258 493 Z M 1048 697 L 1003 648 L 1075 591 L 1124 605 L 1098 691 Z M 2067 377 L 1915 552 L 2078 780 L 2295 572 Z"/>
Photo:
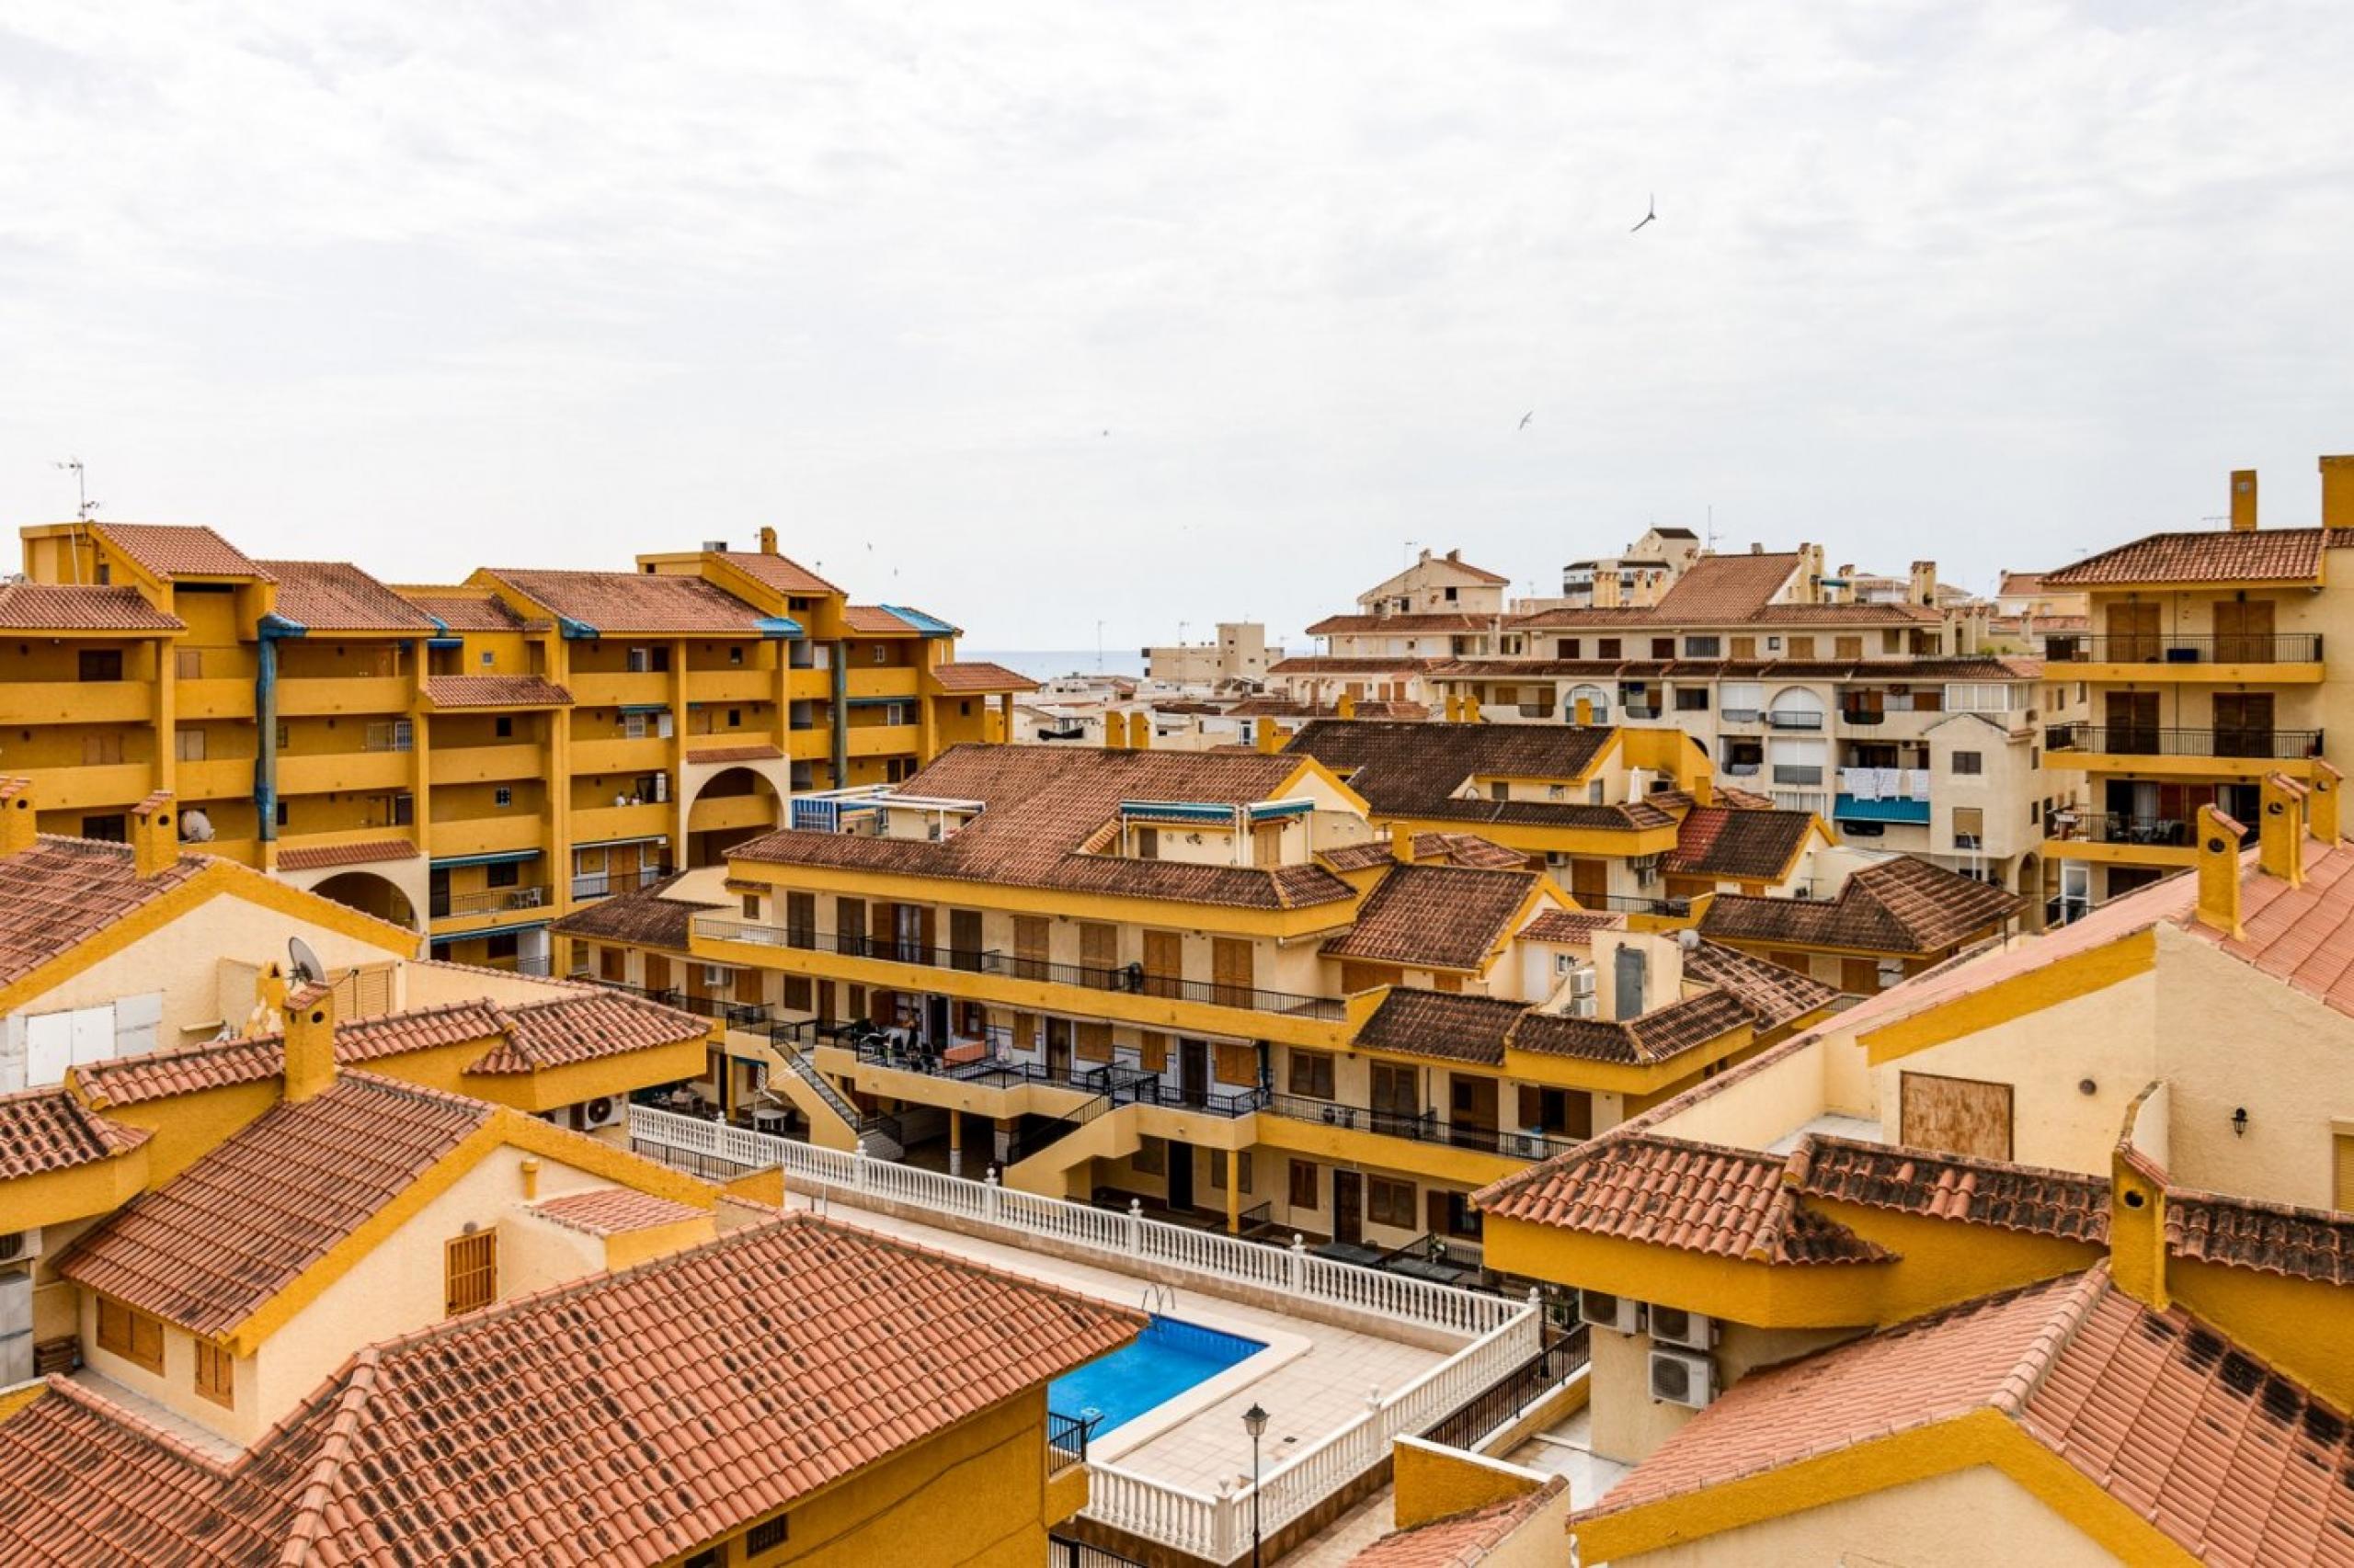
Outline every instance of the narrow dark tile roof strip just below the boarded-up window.
<path fill-rule="evenodd" d="M 1810 1198 L 2095 1245 L 2109 1241 L 2109 1182 L 2074 1170 L 1926 1154 L 1815 1132 L 1798 1140 L 1789 1156 L 1789 1175 Z"/>

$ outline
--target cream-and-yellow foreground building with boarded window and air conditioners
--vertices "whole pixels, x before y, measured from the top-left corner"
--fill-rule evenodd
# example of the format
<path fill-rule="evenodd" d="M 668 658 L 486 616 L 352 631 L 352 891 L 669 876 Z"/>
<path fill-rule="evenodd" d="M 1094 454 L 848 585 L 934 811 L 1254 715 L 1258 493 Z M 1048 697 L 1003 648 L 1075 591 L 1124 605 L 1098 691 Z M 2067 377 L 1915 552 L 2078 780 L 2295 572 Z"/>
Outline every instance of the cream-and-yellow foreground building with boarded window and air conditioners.
<path fill-rule="evenodd" d="M 2333 768 L 1478 1196 L 1591 1333 L 1589 1561 L 2330 1561 L 2354 1530 Z"/>

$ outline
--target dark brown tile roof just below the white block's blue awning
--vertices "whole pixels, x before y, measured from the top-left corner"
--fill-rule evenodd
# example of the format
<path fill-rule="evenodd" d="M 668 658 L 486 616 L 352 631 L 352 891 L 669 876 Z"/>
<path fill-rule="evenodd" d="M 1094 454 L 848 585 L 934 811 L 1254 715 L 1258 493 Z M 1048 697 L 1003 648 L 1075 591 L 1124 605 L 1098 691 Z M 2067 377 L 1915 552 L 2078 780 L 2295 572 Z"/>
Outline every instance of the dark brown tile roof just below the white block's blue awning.
<path fill-rule="evenodd" d="M 1716 942 L 1935 954 L 2022 906 L 2024 899 L 1991 883 L 1900 855 L 1853 873 L 1831 902 L 1721 892 L 1700 916 L 1700 930 Z"/>

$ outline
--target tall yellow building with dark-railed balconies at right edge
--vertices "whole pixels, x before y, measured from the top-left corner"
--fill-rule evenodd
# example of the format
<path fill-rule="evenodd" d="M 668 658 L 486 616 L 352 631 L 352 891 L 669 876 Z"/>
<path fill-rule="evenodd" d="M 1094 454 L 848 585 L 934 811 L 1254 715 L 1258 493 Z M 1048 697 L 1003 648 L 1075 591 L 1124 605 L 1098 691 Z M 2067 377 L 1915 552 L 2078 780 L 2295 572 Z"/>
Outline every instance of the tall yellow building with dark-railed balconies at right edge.
<path fill-rule="evenodd" d="M 2053 765 L 2086 775 L 2050 845 L 2072 918 L 2189 866 L 2203 805 L 2255 822 L 2260 779 L 2312 777 L 2354 723 L 2333 582 L 2354 574 L 2354 457 L 2321 459 L 2321 527 L 2257 527 L 2253 469 L 2232 476 L 2229 516 L 2043 574 L 2090 600 L 2086 631 L 2046 640 L 2048 673 L 2088 699 L 2046 739 Z"/>

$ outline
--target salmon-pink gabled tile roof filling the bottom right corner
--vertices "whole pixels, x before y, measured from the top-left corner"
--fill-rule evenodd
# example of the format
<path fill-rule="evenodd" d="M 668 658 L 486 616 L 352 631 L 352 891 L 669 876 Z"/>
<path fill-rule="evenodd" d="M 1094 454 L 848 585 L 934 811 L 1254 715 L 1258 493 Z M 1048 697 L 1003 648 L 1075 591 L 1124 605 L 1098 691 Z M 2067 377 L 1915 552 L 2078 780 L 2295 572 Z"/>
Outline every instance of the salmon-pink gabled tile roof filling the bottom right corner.
<path fill-rule="evenodd" d="M 2187 1556 L 2354 1563 L 2349 1422 L 2107 1267 L 1751 1373 L 1591 1514 L 1688 1497 L 1801 1460 L 1996 1410 Z M 1589 1514 L 1589 1516 L 1591 1516 Z"/>

